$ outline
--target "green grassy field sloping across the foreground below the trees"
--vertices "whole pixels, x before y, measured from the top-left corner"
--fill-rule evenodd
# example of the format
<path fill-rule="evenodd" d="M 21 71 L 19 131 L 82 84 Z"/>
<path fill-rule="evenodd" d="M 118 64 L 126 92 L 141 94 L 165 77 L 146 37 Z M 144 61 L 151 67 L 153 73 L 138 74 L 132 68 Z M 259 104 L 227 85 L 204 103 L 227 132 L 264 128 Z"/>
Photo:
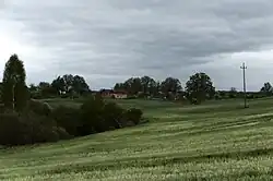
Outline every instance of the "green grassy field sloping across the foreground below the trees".
<path fill-rule="evenodd" d="M 142 108 L 150 123 L 0 150 L 0 180 L 273 180 L 273 99 L 248 109 L 241 100 L 118 102 Z"/>

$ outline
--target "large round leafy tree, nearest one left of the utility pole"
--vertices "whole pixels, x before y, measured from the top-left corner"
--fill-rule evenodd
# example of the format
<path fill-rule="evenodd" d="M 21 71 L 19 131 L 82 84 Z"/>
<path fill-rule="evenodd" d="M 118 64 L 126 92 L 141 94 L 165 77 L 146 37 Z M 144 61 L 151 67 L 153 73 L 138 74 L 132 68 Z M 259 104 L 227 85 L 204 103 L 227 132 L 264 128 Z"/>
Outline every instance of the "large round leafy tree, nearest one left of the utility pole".
<path fill-rule="evenodd" d="M 192 102 L 201 104 L 206 98 L 212 98 L 215 94 L 215 87 L 211 81 L 211 77 L 205 73 L 195 73 L 190 76 L 190 80 L 186 83 L 186 93 L 188 99 Z"/>

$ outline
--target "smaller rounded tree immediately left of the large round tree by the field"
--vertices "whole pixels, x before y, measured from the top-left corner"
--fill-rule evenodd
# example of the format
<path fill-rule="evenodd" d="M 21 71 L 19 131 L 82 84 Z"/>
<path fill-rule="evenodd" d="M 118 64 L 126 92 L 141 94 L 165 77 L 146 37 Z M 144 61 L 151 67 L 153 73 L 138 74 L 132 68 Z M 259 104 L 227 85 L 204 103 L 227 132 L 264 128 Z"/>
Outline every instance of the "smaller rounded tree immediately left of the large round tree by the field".
<path fill-rule="evenodd" d="M 162 82 L 161 89 L 165 96 L 168 96 L 169 94 L 176 95 L 182 89 L 182 86 L 178 79 L 167 77 Z"/>

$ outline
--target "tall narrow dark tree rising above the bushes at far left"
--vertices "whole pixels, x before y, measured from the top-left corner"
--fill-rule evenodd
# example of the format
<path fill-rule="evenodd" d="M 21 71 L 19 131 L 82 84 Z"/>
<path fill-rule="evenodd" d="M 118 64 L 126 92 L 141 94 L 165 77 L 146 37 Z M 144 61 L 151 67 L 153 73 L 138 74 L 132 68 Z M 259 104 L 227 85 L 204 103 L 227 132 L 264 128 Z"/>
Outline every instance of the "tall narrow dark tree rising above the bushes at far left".
<path fill-rule="evenodd" d="M 12 55 L 3 72 L 3 102 L 5 108 L 22 110 L 27 101 L 24 63 Z"/>

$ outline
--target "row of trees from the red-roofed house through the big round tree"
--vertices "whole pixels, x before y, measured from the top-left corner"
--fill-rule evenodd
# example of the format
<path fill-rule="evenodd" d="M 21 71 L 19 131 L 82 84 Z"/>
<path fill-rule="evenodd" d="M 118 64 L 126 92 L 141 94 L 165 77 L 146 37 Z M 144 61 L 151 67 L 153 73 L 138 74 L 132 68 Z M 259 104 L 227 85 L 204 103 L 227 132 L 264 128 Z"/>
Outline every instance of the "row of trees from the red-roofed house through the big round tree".
<path fill-rule="evenodd" d="M 115 90 L 124 90 L 131 96 L 157 97 L 165 99 L 188 99 L 200 104 L 205 99 L 214 97 L 215 87 L 211 77 L 203 72 L 190 76 L 182 89 L 181 82 L 175 77 L 167 77 L 163 82 L 153 77 L 131 77 L 123 83 L 117 83 Z"/>

